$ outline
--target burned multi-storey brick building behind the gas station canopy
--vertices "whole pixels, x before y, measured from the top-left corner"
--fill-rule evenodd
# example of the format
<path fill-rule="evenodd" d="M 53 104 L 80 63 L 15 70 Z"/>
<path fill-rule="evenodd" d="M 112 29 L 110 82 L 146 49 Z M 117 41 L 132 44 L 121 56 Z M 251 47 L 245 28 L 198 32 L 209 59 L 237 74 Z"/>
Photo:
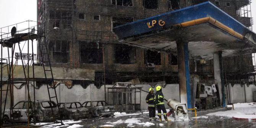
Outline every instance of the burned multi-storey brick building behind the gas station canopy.
<path fill-rule="evenodd" d="M 118 44 L 113 28 L 208 0 L 37 0 L 41 41 L 48 44 L 52 66 L 95 70 L 100 88 L 137 79 L 134 84 L 177 84 L 176 52 Z M 209 0 L 251 28 L 250 0 Z M 202 48 L 203 49 L 203 48 Z M 254 84 L 252 55 L 222 58 L 226 84 Z M 232 63 L 230 63 L 232 62 Z M 212 58 L 190 58 L 191 83 L 214 84 Z M 193 70 L 192 70 L 193 69 Z M 104 77 L 105 76 L 105 77 Z M 85 85 L 88 81 L 74 80 Z M 217 84 L 217 83 L 216 83 Z M 197 88 L 197 83 L 194 88 Z"/>

